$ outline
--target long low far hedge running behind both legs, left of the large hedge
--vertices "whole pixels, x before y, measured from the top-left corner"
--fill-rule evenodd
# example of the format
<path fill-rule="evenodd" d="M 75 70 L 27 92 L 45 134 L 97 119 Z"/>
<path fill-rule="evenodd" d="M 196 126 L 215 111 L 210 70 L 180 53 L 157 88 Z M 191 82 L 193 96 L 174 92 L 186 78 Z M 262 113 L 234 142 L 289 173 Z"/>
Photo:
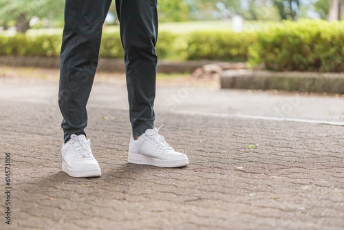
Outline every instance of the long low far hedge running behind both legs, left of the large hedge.
<path fill-rule="evenodd" d="M 255 33 L 192 32 L 173 34 L 160 32 L 156 52 L 160 59 L 245 61 L 248 46 L 255 41 Z M 2 56 L 58 56 L 61 35 L 14 36 L 0 35 Z M 124 56 L 119 34 L 104 32 L 99 56 L 121 59 Z"/>

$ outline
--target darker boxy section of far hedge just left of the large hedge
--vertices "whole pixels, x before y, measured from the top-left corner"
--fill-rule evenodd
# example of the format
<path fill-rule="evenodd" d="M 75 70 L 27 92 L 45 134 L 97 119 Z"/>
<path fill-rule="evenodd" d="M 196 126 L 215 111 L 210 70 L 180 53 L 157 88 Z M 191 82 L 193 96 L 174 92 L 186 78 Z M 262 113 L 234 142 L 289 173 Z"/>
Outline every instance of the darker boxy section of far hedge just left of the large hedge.
<path fill-rule="evenodd" d="M 186 36 L 189 60 L 246 61 L 256 32 L 193 32 Z"/>

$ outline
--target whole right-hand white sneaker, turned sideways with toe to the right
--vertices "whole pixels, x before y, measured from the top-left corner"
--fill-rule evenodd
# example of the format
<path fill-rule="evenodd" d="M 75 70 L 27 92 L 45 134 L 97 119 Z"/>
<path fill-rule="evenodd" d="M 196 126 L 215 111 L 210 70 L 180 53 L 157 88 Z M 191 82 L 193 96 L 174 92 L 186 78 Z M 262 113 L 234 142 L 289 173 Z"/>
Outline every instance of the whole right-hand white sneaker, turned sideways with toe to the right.
<path fill-rule="evenodd" d="M 189 165 L 188 157 L 174 151 L 166 143 L 164 137 L 158 134 L 159 129 L 147 129 L 137 140 L 134 140 L 131 134 L 128 162 L 158 167 L 183 167 Z"/>

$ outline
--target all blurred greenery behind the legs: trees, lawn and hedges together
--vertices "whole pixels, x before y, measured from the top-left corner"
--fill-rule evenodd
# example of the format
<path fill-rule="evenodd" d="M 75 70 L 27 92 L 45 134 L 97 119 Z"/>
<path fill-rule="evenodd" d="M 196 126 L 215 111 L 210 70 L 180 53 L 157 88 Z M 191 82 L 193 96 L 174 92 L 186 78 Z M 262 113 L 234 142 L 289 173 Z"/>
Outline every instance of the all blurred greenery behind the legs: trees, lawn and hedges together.
<path fill-rule="evenodd" d="M 0 0 L 0 55 L 58 56 L 64 1 Z M 343 72 L 343 23 L 305 19 L 344 17 L 344 0 L 336 7 L 333 2 L 158 0 L 156 51 L 160 59 L 247 61 L 268 70 Z M 116 17 L 114 4 L 109 12 Z M 231 19 L 236 15 L 245 19 L 242 32 L 233 31 Z M 123 55 L 114 20 L 104 27 L 100 57 Z"/>

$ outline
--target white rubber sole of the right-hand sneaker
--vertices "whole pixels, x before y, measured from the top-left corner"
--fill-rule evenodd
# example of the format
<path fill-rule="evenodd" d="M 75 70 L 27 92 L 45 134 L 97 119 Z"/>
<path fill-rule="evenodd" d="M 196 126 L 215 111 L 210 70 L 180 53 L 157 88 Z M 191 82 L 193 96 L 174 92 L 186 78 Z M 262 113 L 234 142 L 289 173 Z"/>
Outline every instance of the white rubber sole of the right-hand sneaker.
<path fill-rule="evenodd" d="M 184 167 L 189 165 L 189 159 L 178 159 L 178 160 L 160 160 L 157 158 L 151 158 L 149 156 L 144 156 L 142 154 L 133 154 L 129 152 L 128 154 L 128 162 L 131 164 L 138 164 L 138 165 L 154 165 L 158 167 L 165 167 L 165 168 L 176 168 L 176 167 Z"/>

